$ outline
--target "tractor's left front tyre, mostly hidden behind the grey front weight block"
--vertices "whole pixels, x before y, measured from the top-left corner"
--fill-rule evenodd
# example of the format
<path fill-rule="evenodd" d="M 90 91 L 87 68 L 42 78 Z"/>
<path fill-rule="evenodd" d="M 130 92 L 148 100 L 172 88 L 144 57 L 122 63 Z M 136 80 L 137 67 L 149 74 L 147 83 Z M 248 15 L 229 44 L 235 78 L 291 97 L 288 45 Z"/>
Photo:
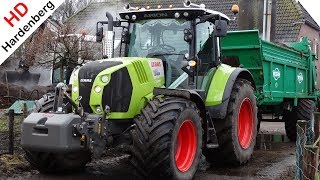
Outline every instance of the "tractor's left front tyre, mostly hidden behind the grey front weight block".
<path fill-rule="evenodd" d="M 35 112 L 47 113 L 53 109 L 54 95 L 48 93 L 36 101 Z M 27 161 L 41 173 L 55 173 L 64 171 L 79 171 L 91 161 L 89 151 L 55 154 L 25 150 Z"/>

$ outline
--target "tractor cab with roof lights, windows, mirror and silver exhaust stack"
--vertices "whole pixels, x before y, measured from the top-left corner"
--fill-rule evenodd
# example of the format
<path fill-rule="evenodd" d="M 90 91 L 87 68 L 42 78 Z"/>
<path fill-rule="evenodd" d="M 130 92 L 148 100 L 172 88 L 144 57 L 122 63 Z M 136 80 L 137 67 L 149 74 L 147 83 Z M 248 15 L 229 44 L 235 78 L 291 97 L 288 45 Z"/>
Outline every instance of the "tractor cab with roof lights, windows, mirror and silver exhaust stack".
<path fill-rule="evenodd" d="M 103 41 L 105 57 L 114 56 L 113 27 L 122 27 L 120 56 L 161 59 L 166 87 L 203 89 L 205 75 L 220 64 L 219 37 L 226 35 L 230 19 L 203 4 L 186 1 L 184 6 L 127 5 L 120 21 L 107 13 L 108 21 L 97 24 L 97 41 Z"/>

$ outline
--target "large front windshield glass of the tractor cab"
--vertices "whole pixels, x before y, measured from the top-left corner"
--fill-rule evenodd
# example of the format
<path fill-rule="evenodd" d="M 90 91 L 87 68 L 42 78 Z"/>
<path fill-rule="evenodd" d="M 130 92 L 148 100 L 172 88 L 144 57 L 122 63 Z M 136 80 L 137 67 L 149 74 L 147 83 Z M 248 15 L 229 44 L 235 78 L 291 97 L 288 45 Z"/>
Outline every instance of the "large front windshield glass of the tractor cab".
<path fill-rule="evenodd" d="M 139 20 L 130 26 L 129 57 L 156 57 L 181 61 L 188 53 L 183 30 L 190 22 L 179 19 Z M 160 57 L 162 56 L 162 57 Z"/>

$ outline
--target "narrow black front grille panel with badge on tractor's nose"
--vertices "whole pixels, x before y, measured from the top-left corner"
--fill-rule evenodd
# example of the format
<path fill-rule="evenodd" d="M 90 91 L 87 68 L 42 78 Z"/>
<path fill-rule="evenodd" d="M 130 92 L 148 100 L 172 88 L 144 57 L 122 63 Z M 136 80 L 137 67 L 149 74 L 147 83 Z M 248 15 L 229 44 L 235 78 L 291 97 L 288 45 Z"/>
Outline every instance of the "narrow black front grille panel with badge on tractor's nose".
<path fill-rule="evenodd" d="M 94 61 L 90 62 L 79 70 L 79 96 L 82 96 L 80 101 L 81 105 L 85 112 L 92 113 L 92 109 L 89 105 L 90 94 L 93 82 L 97 75 L 110 67 L 117 66 L 122 64 L 119 61 Z"/>

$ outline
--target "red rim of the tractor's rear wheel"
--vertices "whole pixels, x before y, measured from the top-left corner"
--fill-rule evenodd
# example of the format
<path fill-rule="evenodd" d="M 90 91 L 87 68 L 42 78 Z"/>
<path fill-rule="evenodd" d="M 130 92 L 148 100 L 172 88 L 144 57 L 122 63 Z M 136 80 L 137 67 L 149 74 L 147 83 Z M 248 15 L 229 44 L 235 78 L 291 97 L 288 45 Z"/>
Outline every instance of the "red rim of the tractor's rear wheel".
<path fill-rule="evenodd" d="M 238 140 L 243 149 L 249 148 L 253 136 L 253 108 L 250 99 L 242 101 L 238 115 Z"/>

